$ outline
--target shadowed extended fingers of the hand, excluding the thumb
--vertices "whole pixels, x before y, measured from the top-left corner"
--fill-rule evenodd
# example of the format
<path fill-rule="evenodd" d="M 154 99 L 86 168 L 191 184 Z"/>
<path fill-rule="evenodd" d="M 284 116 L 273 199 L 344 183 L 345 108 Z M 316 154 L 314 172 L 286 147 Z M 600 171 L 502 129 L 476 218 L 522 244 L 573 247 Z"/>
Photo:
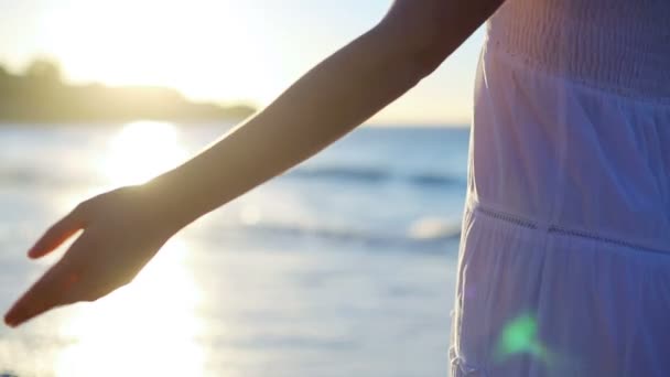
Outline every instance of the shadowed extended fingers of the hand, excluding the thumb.
<path fill-rule="evenodd" d="M 14 303 L 4 322 L 15 327 L 55 306 L 75 302 L 72 288 L 78 280 L 77 273 L 56 263 Z"/>

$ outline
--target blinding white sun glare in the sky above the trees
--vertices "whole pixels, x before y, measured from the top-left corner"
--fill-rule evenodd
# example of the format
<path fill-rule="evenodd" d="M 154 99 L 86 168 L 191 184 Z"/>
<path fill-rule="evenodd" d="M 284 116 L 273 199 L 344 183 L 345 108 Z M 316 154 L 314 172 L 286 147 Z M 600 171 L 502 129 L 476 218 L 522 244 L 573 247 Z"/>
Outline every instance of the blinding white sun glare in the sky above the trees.
<path fill-rule="evenodd" d="M 210 0 L 82 2 L 48 21 L 48 44 L 75 82 L 168 86 L 195 100 L 258 101 L 275 91 L 278 73 L 268 64 L 271 46 L 258 47 L 267 31 L 258 20 L 251 28 L 242 8 Z"/>

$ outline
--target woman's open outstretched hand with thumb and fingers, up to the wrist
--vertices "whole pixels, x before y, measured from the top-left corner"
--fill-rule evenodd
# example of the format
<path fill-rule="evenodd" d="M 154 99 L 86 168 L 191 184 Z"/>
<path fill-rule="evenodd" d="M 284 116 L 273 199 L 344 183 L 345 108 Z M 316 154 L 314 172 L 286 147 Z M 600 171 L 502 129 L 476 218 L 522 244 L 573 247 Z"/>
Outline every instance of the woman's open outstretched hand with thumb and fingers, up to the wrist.
<path fill-rule="evenodd" d="M 45 256 L 84 231 L 14 303 L 4 322 L 18 326 L 53 308 L 95 301 L 129 283 L 177 230 L 151 203 L 142 187 L 122 187 L 83 202 L 54 224 L 30 249 L 30 258 Z"/>

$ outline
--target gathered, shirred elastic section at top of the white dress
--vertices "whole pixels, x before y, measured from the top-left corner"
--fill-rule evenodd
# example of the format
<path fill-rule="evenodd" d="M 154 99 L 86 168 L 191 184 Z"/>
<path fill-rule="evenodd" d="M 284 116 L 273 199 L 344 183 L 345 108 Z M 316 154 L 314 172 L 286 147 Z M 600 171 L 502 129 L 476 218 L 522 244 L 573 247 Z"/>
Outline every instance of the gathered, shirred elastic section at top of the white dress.
<path fill-rule="evenodd" d="M 508 0 L 487 35 L 538 69 L 670 103 L 668 20 L 662 0 Z"/>

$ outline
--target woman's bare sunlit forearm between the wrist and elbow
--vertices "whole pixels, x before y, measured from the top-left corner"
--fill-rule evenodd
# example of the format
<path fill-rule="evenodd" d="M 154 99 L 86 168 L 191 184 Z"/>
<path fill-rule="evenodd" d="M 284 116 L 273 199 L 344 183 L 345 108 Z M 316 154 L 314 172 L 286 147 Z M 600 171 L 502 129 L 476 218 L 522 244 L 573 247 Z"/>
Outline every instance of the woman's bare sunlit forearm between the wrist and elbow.
<path fill-rule="evenodd" d="M 423 69 L 372 30 L 317 65 L 263 111 L 149 185 L 188 223 L 328 146 L 415 85 Z"/>

